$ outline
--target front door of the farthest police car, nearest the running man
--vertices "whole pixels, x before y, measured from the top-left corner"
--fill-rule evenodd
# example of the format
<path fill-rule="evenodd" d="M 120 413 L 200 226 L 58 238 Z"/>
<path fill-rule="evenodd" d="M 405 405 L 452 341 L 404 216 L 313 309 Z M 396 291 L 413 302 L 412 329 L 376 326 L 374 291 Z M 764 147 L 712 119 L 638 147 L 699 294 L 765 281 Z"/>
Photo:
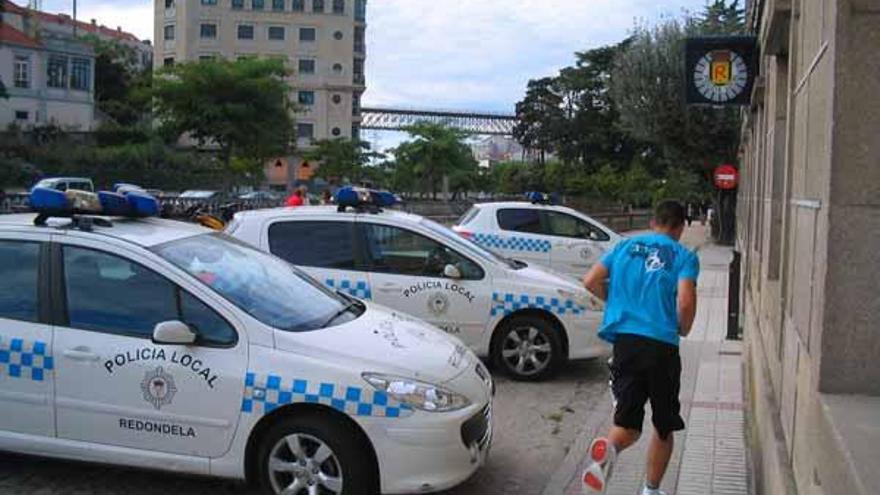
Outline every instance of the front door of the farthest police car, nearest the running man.
<path fill-rule="evenodd" d="M 544 211 L 543 224 L 553 249 L 550 266 L 558 272 L 581 278 L 607 250 L 611 237 L 599 227 L 574 215 Z"/>

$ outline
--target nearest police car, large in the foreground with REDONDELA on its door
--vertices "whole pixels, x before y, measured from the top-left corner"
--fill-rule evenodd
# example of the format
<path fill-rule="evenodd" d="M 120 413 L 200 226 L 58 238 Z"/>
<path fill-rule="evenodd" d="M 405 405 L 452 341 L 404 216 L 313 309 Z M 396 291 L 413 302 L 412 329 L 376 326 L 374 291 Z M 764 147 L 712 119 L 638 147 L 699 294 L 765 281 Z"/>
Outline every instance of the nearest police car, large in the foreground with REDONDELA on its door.
<path fill-rule="evenodd" d="M 0 216 L 0 450 L 294 495 L 436 491 L 483 463 L 492 381 L 458 339 L 150 218 L 142 191 L 70 193 Z"/>

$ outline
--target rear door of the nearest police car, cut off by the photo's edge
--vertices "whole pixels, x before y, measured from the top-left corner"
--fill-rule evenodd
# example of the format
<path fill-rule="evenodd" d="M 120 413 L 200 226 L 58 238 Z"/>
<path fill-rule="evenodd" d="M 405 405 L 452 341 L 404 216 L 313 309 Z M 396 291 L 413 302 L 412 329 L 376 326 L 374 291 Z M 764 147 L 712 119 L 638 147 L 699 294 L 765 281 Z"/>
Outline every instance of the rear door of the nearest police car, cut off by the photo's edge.
<path fill-rule="evenodd" d="M 48 236 L 0 233 L 0 430 L 52 437 L 55 365 Z"/>

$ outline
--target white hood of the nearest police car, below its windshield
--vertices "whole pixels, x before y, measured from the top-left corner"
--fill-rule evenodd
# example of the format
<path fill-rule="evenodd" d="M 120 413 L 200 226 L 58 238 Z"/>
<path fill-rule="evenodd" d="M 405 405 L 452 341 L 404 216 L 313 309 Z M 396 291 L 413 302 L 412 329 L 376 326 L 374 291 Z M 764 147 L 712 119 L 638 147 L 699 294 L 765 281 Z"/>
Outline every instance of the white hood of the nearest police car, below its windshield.
<path fill-rule="evenodd" d="M 457 338 L 416 318 L 366 304 L 357 319 L 314 332 L 276 332 L 280 350 L 348 362 L 362 371 L 448 382 L 472 367 L 476 356 Z"/>

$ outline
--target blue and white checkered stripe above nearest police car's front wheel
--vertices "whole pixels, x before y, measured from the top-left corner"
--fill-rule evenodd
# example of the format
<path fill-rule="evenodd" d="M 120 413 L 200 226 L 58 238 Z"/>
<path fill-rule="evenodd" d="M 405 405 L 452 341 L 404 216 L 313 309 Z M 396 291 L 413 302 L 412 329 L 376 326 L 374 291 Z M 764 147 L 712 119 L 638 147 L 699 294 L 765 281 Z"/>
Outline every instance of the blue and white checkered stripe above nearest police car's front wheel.
<path fill-rule="evenodd" d="M 413 413 L 406 404 L 370 388 L 253 372 L 245 375 L 244 387 L 241 411 L 246 414 L 268 414 L 278 407 L 296 403 L 324 404 L 350 416 L 403 418 Z"/>

